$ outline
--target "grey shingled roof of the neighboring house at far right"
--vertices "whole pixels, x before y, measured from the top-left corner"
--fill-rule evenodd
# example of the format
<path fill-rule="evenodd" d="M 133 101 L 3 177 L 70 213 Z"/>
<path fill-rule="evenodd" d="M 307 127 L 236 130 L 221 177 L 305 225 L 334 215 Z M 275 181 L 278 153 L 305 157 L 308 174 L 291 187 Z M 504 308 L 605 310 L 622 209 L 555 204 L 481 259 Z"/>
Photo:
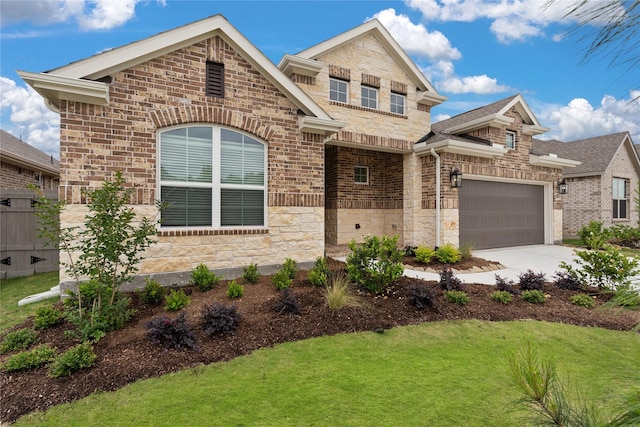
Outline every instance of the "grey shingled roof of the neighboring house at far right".
<path fill-rule="evenodd" d="M 570 172 L 564 171 L 566 177 L 602 175 L 616 153 L 622 149 L 624 144 L 629 144 L 636 168 L 640 168 L 640 159 L 635 150 L 629 132 L 619 132 L 610 135 L 596 136 L 593 138 L 580 139 L 570 142 L 558 140 L 542 141 L 533 140 L 532 151 L 535 154 L 556 154 L 580 161 L 582 164 L 572 169 Z"/>

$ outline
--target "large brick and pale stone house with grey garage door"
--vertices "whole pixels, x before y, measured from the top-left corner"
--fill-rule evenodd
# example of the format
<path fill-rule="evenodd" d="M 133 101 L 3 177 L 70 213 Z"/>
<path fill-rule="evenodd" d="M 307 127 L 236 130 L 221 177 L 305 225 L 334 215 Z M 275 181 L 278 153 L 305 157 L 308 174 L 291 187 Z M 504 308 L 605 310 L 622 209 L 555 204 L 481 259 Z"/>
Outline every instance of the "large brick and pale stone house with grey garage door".
<path fill-rule="evenodd" d="M 446 98 L 377 20 L 278 66 L 217 15 L 19 74 L 60 113 L 65 225 L 86 213 L 81 190 L 117 170 L 136 189 L 138 213 L 156 215 L 156 199 L 170 203 L 141 264 L 163 282 L 185 283 L 201 262 L 234 269 L 228 275 L 286 257 L 310 265 L 327 245 L 365 234 L 427 246 L 561 238 L 556 182 L 574 163 L 529 154 L 531 136 L 546 129 L 522 97 L 431 132 L 431 107 Z M 452 168 L 463 173 L 460 189 L 449 183 Z M 474 181 L 541 190 L 532 200 L 542 210 L 524 214 L 541 229 L 529 232 L 519 212 L 492 229 L 504 234 L 515 220 L 508 234 L 535 237 L 474 241 L 463 228 L 471 208 L 462 196 L 458 205 Z"/>

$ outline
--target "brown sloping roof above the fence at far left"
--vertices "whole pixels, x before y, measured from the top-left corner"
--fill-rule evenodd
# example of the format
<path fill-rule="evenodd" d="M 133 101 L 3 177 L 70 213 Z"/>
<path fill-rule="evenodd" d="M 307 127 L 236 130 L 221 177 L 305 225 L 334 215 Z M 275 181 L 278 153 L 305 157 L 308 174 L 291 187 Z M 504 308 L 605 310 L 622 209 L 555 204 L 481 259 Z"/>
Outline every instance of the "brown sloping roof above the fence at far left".
<path fill-rule="evenodd" d="M 32 145 L 0 129 L 0 157 L 3 162 L 60 176 L 60 162 Z"/>

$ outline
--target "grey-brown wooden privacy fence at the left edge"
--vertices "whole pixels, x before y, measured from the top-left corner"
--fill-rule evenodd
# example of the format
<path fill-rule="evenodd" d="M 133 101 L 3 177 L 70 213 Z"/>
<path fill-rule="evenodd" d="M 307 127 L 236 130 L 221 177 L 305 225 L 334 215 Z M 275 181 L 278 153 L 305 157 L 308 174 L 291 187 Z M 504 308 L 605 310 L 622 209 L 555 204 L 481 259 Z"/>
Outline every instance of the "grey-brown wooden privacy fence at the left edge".
<path fill-rule="evenodd" d="M 44 191 L 58 200 L 56 191 Z M 58 271 L 60 254 L 45 246 L 38 235 L 36 195 L 28 189 L 0 190 L 0 278 Z"/>

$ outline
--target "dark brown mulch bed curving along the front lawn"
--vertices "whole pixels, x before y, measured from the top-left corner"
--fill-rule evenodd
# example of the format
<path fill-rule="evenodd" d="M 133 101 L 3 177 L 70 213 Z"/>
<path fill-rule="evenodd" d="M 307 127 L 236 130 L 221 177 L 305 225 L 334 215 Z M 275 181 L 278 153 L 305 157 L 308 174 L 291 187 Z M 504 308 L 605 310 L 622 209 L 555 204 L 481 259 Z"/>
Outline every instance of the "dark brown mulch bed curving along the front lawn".
<path fill-rule="evenodd" d="M 331 260 L 332 268 L 342 264 Z M 428 284 L 436 295 L 436 307 L 417 310 L 408 299 L 407 288 L 415 283 Z M 240 327 L 232 334 L 209 338 L 199 330 L 199 316 L 205 304 L 214 301 L 231 304 L 226 296 L 226 285 L 209 292 L 191 292 L 191 304 L 184 310 L 194 330 L 200 350 L 164 350 L 146 337 L 145 324 L 154 316 L 166 314 L 162 306 L 147 306 L 137 295 L 131 295 L 132 305 L 138 310 L 127 327 L 111 332 L 95 346 L 97 363 L 94 367 L 77 372 L 71 377 L 51 379 L 46 368 L 18 373 L 0 373 L 2 384 L 1 420 L 11 422 L 21 415 L 46 410 L 48 407 L 85 397 L 96 391 L 117 390 L 133 381 L 158 377 L 200 364 L 233 359 L 252 351 L 287 341 L 302 340 L 321 335 L 344 332 L 375 331 L 396 326 L 435 322 L 451 319 L 481 319 L 507 321 L 519 319 L 563 322 L 579 326 L 598 326 L 613 330 L 630 330 L 640 322 L 640 313 L 624 312 L 614 315 L 608 311 L 585 309 L 569 302 L 574 292 L 562 291 L 552 284 L 545 285 L 547 302 L 543 305 L 526 303 L 514 298 L 509 305 L 490 299 L 495 291 L 490 285 L 465 285 L 470 303 L 458 306 L 447 302 L 436 282 L 401 278 L 385 295 L 363 295 L 366 309 L 344 308 L 332 311 L 324 303 L 322 289 L 306 280 L 306 272 L 299 272 L 292 290 L 299 299 L 300 314 L 277 313 L 272 309 L 278 295 L 270 276 L 260 282 L 245 285 L 245 296 L 235 303 L 242 315 Z M 606 301 L 596 296 L 597 304 Z M 169 314 L 176 317 L 177 313 Z M 30 327 L 30 319 L 19 327 Z M 64 351 L 77 342 L 66 338 L 68 324 L 39 331 L 40 342 Z M 2 356 L 2 362 L 11 354 Z"/>

